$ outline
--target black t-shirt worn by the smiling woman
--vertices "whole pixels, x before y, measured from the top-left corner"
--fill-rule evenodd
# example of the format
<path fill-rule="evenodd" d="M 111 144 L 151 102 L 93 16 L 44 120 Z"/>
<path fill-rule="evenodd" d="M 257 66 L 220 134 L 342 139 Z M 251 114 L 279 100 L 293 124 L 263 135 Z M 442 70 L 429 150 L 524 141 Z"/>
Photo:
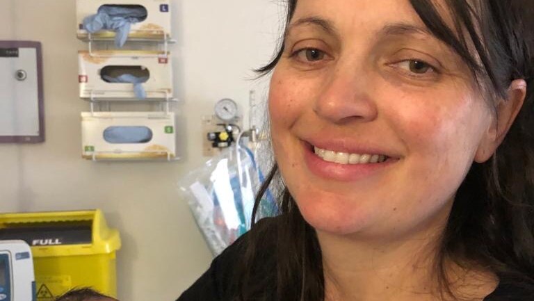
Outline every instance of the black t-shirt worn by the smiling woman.
<path fill-rule="evenodd" d="M 274 228 L 274 223 L 275 218 L 264 219 L 259 222 L 258 228 Z M 267 233 L 272 233 L 273 237 L 266 238 L 266 241 L 274 241 L 275 232 L 276 229 L 267 231 Z M 238 241 L 227 247 L 216 259 L 213 259 L 209 269 L 190 288 L 184 291 L 177 301 L 232 301 L 234 292 L 229 291 L 232 271 L 235 263 L 241 260 L 248 236 L 248 234 L 241 236 Z M 262 263 L 266 264 L 266 262 Z M 267 264 L 272 264 L 272 262 Z M 258 275 L 258 277 L 262 276 Z M 275 287 L 266 289 L 276 291 Z M 510 279 L 501 277 L 499 286 L 483 301 L 534 301 L 534 292 L 530 288 L 524 288 Z"/>

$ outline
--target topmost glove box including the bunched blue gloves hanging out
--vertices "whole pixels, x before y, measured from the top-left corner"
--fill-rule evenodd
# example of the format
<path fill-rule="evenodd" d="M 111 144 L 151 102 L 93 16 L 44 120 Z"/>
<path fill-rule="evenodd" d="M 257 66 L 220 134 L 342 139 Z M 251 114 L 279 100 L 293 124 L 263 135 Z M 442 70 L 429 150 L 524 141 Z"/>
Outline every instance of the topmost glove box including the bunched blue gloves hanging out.
<path fill-rule="evenodd" d="M 170 0 L 76 0 L 76 22 L 77 37 L 84 41 L 113 40 L 126 33 L 127 40 L 167 41 Z"/>

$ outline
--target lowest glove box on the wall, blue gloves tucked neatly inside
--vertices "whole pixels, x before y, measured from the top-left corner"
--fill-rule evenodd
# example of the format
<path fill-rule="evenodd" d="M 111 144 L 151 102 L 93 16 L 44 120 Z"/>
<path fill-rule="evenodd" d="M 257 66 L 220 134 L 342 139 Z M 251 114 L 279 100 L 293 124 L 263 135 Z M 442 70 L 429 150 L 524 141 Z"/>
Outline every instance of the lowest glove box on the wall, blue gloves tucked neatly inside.
<path fill-rule="evenodd" d="M 81 128 L 83 158 L 176 158 L 174 113 L 82 112 Z"/>

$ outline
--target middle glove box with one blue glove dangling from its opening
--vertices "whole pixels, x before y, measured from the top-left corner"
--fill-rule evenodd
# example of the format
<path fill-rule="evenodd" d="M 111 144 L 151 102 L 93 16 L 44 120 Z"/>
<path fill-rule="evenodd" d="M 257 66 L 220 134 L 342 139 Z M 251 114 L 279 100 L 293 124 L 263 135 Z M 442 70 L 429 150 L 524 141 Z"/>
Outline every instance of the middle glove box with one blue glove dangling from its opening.
<path fill-rule="evenodd" d="M 161 51 L 78 51 L 80 97 L 172 100 L 172 63 Z"/>

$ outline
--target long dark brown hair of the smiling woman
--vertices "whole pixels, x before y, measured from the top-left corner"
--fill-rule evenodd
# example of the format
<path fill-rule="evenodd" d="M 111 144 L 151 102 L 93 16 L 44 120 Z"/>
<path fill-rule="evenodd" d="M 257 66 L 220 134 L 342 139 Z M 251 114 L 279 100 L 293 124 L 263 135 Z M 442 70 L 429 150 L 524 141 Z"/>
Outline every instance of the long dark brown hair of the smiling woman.
<path fill-rule="evenodd" d="M 499 149 L 489 161 L 474 163 L 458 188 L 436 261 L 442 294 L 455 297 L 445 274 L 445 259 L 487 268 L 534 294 L 534 24 L 530 21 L 534 1 L 444 2 L 453 16 L 452 28 L 432 0 L 410 0 L 435 37 L 469 66 L 481 91 L 488 92 L 488 103 L 495 106 L 497 99 L 506 97 L 514 79 L 524 79 L 528 88 L 524 105 Z M 288 1 L 287 24 L 296 6 L 297 0 Z M 280 46 L 275 58 L 257 70 L 260 74 L 273 70 L 284 43 Z M 262 195 L 279 176 L 275 165 L 257 196 L 253 220 Z M 238 300 L 268 300 L 266 288 L 273 285 L 276 300 L 323 301 L 321 248 L 286 188 L 280 197 L 280 213 L 273 272 L 261 279 L 254 277 L 254 265 L 261 265 L 259 259 L 273 252 L 262 250 L 262 231 L 267 230 L 256 227 L 238 269 Z"/>

